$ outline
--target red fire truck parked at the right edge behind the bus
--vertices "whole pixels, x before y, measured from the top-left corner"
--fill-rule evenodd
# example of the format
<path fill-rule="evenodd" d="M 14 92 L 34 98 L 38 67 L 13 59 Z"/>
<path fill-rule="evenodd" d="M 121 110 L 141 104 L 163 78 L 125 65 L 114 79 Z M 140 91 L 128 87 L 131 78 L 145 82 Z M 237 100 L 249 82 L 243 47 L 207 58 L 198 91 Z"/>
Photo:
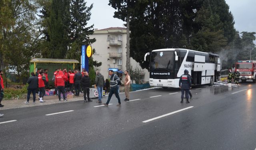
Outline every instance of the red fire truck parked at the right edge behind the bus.
<path fill-rule="evenodd" d="M 256 60 L 238 60 L 236 62 L 236 69 L 240 72 L 240 79 L 242 82 L 252 80 L 256 83 Z"/>

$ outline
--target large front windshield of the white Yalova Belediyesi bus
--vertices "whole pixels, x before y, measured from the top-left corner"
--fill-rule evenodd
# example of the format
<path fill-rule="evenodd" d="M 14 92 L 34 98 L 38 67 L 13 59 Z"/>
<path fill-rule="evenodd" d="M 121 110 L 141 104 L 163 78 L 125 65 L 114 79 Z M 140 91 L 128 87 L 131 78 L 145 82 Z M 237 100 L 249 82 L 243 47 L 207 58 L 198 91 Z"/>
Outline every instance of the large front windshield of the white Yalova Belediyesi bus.
<path fill-rule="evenodd" d="M 150 70 L 158 69 L 174 69 L 174 51 L 158 51 L 151 53 Z"/>

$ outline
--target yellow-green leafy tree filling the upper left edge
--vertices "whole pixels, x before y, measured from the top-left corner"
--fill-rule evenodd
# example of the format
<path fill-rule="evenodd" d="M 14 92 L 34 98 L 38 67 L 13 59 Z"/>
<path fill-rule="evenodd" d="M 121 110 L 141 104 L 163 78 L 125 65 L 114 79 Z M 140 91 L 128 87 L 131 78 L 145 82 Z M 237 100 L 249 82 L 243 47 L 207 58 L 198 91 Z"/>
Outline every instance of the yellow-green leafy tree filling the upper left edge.
<path fill-rule="evenodd" d="M 38 40 L 36 26 L 36 3 L 30 0 L 1 1 L 1 38 L 0 38 L 0 62 L 1 69 L 17 70 L 18 75 L 23 70 L 28 70 L 29 60 L 37 52 L 34 51 Z M 3 5 L 2 5 L 3 4 Z M 2 18 L 3 17 L 3 18 Z M 31 21 L 34 20 L 34 21 Z M 14 54 L 16 57 L 14 57 Z"/>

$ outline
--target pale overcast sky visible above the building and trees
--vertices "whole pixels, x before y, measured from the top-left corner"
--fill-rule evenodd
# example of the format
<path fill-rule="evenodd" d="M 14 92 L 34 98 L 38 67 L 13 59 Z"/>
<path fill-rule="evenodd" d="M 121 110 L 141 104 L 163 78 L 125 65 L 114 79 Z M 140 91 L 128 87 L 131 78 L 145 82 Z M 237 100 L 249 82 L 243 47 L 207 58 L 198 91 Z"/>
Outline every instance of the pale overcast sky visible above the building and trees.
<path fill-rule="evenodd" d="M 113 18 L 114 8 L 108 6 L 108 0 L 86 0 L 87 6 L 94 3 L 91 20 L 88 25 L 104 29 L 123 27 L 122 20 Z M 226 0 L 234 16 L 235 28 L 239 32 L 256 32 L 256 0 Z"/>

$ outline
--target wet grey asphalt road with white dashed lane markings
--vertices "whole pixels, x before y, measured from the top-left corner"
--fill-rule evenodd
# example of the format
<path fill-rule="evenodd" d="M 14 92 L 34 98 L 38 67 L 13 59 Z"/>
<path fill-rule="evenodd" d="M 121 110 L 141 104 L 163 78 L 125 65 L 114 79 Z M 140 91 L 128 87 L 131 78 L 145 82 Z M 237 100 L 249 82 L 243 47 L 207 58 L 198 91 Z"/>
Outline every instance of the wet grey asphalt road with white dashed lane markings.
<path fill-rule="evenodd" d="M 130 102 L 121 94 L 118 107 L 113 96 L 108 107 L 94 99 L 0 110 L 0 149 L 255 150 L 256 84 L 191 92 L 189 104 L 179 89 L 158 88 L 131 92 Z"/>

